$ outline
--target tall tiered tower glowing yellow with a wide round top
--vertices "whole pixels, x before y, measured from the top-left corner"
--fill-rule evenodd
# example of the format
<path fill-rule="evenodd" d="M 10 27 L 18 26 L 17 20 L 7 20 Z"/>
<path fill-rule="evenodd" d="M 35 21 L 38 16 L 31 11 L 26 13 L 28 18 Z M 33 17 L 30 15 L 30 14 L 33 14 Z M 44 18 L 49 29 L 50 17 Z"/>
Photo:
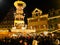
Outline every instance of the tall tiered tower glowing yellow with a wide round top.
<path fill-rule="evenodd" d="M 23 1 L 15 1 L 14 6 L 16 7 L 16 12 L 14 13 L 14 26 L 16 28 L 21 28 L 24 26 L 24 11 L 26 4 Z"/>

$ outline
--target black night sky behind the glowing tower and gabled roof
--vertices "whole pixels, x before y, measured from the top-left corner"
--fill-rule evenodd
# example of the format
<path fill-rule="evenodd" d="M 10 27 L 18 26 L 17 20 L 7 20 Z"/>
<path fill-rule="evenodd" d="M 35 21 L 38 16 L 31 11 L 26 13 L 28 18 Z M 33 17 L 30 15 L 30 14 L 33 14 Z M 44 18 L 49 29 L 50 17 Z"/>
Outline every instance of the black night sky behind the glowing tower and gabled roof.
<path fill-rule="evenodd" d="M 14 8 L 14 1 L 16 0 L 0 0 L 0 19 L 6 17 L 6 14 L 9 12 L 11 8 Z M 54 8 L 60 8 L 60 0 L 22 0 L 27 6 L 25 10 L 28 15 L 31 16 L 31 12 L 35 8 L 39 8 L 43 11 L 43 13 L 48 13 L 48 10 Z"/>

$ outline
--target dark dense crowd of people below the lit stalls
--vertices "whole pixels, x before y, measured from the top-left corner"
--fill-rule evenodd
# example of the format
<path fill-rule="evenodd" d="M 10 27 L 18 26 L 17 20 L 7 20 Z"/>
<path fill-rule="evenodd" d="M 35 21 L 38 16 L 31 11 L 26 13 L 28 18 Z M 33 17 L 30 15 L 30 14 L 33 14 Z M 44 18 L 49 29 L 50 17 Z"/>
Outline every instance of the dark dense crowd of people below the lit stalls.
<path fill-rule="evenodd" d="M 0 45 L 59 45 L 59 39 L 56 35 L 48 33 L 36 34 L 13 34 L 11 37 L 0 39 Z"/>

